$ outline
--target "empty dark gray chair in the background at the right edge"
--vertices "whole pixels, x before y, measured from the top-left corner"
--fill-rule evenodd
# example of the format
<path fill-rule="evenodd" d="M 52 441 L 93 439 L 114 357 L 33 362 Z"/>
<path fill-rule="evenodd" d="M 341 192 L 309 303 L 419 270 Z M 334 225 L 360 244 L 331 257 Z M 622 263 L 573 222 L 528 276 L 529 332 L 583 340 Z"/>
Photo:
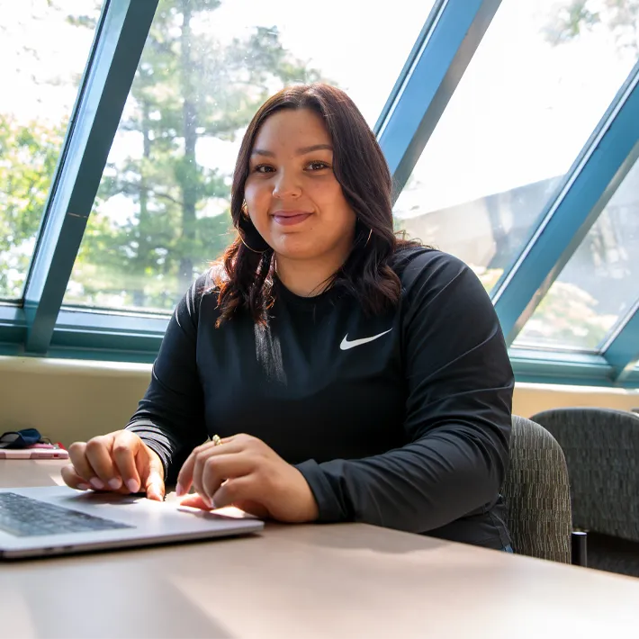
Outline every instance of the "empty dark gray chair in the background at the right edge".
<path fill-rule="evenodd" d="M 639 577 L 639 415 L 570 408 L 533 419 L 563 448 L 573 525 L 589 531 L 589 566 Z"/>

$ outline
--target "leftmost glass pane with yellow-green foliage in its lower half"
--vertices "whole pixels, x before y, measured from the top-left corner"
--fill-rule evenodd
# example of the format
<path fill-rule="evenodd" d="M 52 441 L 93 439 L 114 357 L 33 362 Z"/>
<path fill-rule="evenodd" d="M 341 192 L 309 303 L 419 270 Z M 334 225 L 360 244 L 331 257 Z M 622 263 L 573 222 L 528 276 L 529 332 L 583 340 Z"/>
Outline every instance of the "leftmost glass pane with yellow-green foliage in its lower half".
<path fill-rule="evenodd" d="M 0 298 L 23 296 L 99 14 L 86 0 L 0 0 Z"/>

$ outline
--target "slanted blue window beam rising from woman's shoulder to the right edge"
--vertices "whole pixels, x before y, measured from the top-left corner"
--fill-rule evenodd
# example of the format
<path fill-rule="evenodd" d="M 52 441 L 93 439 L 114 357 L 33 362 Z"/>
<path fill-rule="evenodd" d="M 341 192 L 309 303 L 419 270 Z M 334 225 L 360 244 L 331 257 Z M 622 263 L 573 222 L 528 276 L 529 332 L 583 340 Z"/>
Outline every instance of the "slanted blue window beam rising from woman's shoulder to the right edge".
<path fill-rule="evenodd" d="M 639 157 L 639 61 L 491 293 L 513 344 Z"/>

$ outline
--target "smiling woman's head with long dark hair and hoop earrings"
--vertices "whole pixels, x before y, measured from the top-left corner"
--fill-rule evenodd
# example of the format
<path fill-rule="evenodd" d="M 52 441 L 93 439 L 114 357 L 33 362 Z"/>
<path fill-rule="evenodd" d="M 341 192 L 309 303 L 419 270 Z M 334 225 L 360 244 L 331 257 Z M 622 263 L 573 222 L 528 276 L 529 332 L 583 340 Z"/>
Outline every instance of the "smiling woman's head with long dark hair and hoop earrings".
<path fill-rule="evenodd" d="M 387 259 L 417 245 L 395 237 L 390 192 L 383 153 L 344 92 L 299 85 L 267 100 L 238 153 L 230 210 L 239 234 L 216 282 L 220 323 L 242 295 L 254 320 L 264 319 L 275 263 L 302 296 L 332 285 L 367 311 L 397 303 L 400 281 Z"/>

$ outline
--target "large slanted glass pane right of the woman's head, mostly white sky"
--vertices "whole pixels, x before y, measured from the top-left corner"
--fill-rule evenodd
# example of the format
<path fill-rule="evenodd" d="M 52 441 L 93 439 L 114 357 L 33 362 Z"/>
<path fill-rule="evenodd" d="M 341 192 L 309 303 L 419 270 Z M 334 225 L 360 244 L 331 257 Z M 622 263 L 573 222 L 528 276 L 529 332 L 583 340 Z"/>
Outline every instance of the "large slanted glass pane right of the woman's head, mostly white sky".
<path fill-rule="evenodd" d="M 625 3 L 575 4 L 503 0 L 395 206 L 400 228 L 462 258 L 488 290 L 637 58 Z"/>

